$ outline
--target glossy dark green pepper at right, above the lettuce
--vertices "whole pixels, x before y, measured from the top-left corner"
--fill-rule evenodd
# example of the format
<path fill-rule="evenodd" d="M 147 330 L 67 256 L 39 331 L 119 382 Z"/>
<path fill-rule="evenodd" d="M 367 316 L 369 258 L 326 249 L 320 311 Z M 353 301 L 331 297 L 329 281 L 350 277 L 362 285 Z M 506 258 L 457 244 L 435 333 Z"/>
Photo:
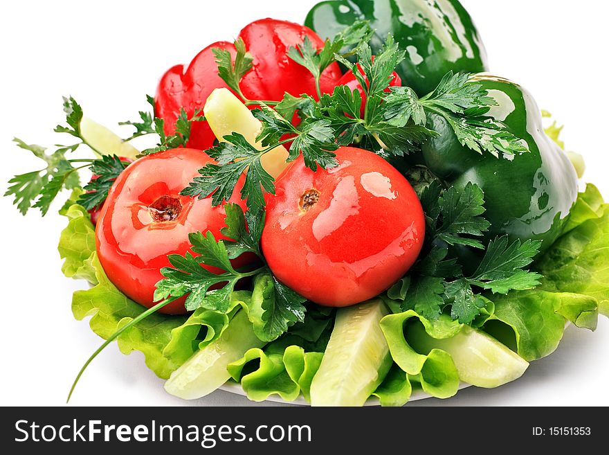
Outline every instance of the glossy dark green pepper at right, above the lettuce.
<path fill-rule="evenodd" d="M 520 240 L 543 240 L 549 247 L 561 234 L 577 198 L 577 176 L 570 160 L 543 132 L 541 113 L 520 85 L 491 75 L 478 75 L 497 106 L 487 114 L 527 142 L 529 152 L 494 157 L 464 147 L 443 117 L 428 115 L 428 127 L 439 136 L 424 143 L 422 159 L 437 177 L 457 188 L 471 181 L 484 190 L 484 217 L 489 238 L 508 234 Z"/>

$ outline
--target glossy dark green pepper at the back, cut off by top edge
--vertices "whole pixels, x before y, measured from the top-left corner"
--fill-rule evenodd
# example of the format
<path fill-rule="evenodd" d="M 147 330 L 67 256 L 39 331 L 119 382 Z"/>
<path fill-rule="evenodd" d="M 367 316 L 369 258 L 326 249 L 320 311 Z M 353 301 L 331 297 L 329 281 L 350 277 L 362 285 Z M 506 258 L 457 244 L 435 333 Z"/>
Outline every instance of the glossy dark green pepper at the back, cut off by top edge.
<path fill-rule="evenodd" d="M 433 91 L 448 71 L 488 71 L 478 31 L 457 0 L 322 1 L 309 11 L 305 25 L 332 38 L 358 19 L 367 19 L 375 30 L 372 53 L 388 33 L 407 51 L 396 71 L 419 96 Z"/>

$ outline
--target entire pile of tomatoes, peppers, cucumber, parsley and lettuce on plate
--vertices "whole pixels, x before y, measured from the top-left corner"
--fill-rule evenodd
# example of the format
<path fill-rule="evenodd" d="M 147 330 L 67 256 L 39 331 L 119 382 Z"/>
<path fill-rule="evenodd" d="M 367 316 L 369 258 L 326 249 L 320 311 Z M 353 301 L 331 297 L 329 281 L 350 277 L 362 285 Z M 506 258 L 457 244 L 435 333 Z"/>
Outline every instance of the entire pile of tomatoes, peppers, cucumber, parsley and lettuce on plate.
<path fill-rule="evenodd" d="M 15 139 L 44 168 L 6 195 L 46 214 L 71 190 L 62 271 L 90 283 L 73 314 L 106 340 L 77 382 L 116 340 L 185 399 L 231 381 L 400 406 L 516 380 L 566 323 L 594 330 L 609 210 L 488 70 L 457 0 L 331 0 L 169 69 L 127 139 L 64 98 L 73 141 Z"/>

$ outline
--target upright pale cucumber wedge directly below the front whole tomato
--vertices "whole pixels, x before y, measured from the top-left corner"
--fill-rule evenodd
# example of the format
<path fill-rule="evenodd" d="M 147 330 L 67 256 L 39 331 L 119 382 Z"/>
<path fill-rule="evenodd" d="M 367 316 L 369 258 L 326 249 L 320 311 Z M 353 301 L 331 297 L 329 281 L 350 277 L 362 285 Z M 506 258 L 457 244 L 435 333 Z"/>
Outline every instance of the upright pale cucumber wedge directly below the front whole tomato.
<path fill-rule="evenodd" d="M 340 308 L 321 365 L 311 382 L 312 406 L 362 406 L 392 364 L 379 324 L 380 298 Z"/>

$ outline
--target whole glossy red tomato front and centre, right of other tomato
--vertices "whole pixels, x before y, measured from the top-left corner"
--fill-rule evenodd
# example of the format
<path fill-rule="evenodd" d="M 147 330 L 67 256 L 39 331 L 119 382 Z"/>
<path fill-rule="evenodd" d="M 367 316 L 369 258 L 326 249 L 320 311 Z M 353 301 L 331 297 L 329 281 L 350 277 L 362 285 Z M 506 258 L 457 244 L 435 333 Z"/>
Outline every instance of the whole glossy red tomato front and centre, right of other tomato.
<path fill-rule="evenodd" d="M 278 177 L 262 250 L 282 283 L 338 307 L 399 280 L 419 255 L 425 221 L 415 191 L 387 161 L 352 147 L 336 158 L 336 168 L 313 172 L 300 157 Z"/>

